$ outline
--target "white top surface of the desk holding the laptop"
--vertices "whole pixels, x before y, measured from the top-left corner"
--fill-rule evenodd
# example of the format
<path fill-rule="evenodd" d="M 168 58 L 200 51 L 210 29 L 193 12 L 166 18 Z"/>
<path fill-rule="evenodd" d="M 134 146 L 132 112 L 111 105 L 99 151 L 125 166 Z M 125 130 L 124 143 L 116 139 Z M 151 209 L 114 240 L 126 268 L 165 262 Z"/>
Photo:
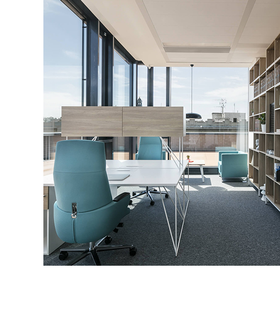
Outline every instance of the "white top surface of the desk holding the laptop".
<path fill-rule="evenodd" d="M 109 181 L 110 186 L 176 186 L 187 166 L 180 169 L 173 160 L 106 160 L 107 174 L 130 174 L 123 181 Z M 44 186 L 54 186 L 53 174 L 44 176 Z"/>

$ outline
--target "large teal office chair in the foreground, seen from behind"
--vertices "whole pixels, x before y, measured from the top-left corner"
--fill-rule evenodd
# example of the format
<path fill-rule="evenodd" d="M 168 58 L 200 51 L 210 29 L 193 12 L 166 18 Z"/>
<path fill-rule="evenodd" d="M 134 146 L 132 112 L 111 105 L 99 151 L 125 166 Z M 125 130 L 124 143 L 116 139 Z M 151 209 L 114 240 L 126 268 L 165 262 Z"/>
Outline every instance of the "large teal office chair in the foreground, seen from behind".
<path fill-rule="evenodd" d="M 130 213 L 129 193 L 112 199 L 106 173 L 105 145 L 90 140 L 65 140 L 57 143 L 54 163 L 54 223 L 58 237 L 68 243 L 89 243 L 89 248 L 64 248 L 59 259 L 68 252 L 82 254 L 67 265 L 73 265 L 87 255 L 100 266 L 98 251 L 129 248 L 130 246 L 99 246 L 111 242 L 108 236 Z"/>

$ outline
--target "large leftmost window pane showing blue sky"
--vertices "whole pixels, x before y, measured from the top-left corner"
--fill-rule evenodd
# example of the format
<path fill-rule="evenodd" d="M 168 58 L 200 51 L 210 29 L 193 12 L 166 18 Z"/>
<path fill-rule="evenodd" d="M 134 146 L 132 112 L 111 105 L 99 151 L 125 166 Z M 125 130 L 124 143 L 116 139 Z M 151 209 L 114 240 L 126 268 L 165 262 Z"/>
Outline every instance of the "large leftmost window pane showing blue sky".
<path fill-rule="evenodd" d="M 60 0 L 44 0 L 44 160 L 52 160 L 61 137 L 61 107 L 83 104 L 83 21 Z"/>

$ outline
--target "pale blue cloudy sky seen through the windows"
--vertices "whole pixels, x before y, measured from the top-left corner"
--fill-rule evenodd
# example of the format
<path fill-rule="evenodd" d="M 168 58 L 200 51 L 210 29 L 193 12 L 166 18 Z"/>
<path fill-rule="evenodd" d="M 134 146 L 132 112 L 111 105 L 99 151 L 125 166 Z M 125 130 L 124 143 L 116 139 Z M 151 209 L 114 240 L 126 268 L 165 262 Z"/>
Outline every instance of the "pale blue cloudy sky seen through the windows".
<path fill-rule="evenodd" d="M 61 106 L 81 105 L 82 22 L 60 0 L 43 0 L 43 97 L 44 117 L 60 117 Z M 122 67 L 123 66 L 123 67 Z M 127 93 L 127 69 L 116 58 L 114 105 L 121 105 Z M 164 106 L 166 68 L 154 68 L 154 106 Z M 147 105 L 147 67 L 139 66 L 138 96 Z M 219 102 L 226 100 L 224 112 L 248 112 L 248 68 L 193 67 L 194 113 L 204 121 L 212 112 L 220 112 Z M 123 92 L 123 96 L 122 96 Z M 125 100 L 128 102 L 128 100 Z M 171 68 L 171 105 L 191 112 L 191 68 Z M 235 105 L 235 106 L 234 106 Z"/>

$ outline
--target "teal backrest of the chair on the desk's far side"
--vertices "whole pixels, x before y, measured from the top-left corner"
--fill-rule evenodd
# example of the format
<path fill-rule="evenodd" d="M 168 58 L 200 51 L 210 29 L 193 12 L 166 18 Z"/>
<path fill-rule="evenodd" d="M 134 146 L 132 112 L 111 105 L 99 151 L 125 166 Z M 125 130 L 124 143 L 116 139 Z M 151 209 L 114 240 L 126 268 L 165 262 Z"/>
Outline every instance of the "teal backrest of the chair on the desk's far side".
<path fill-rule="evenodd" d="M 162 141 L 160 137 L 140 137 L 137 159 L 162 159 Z"/>

